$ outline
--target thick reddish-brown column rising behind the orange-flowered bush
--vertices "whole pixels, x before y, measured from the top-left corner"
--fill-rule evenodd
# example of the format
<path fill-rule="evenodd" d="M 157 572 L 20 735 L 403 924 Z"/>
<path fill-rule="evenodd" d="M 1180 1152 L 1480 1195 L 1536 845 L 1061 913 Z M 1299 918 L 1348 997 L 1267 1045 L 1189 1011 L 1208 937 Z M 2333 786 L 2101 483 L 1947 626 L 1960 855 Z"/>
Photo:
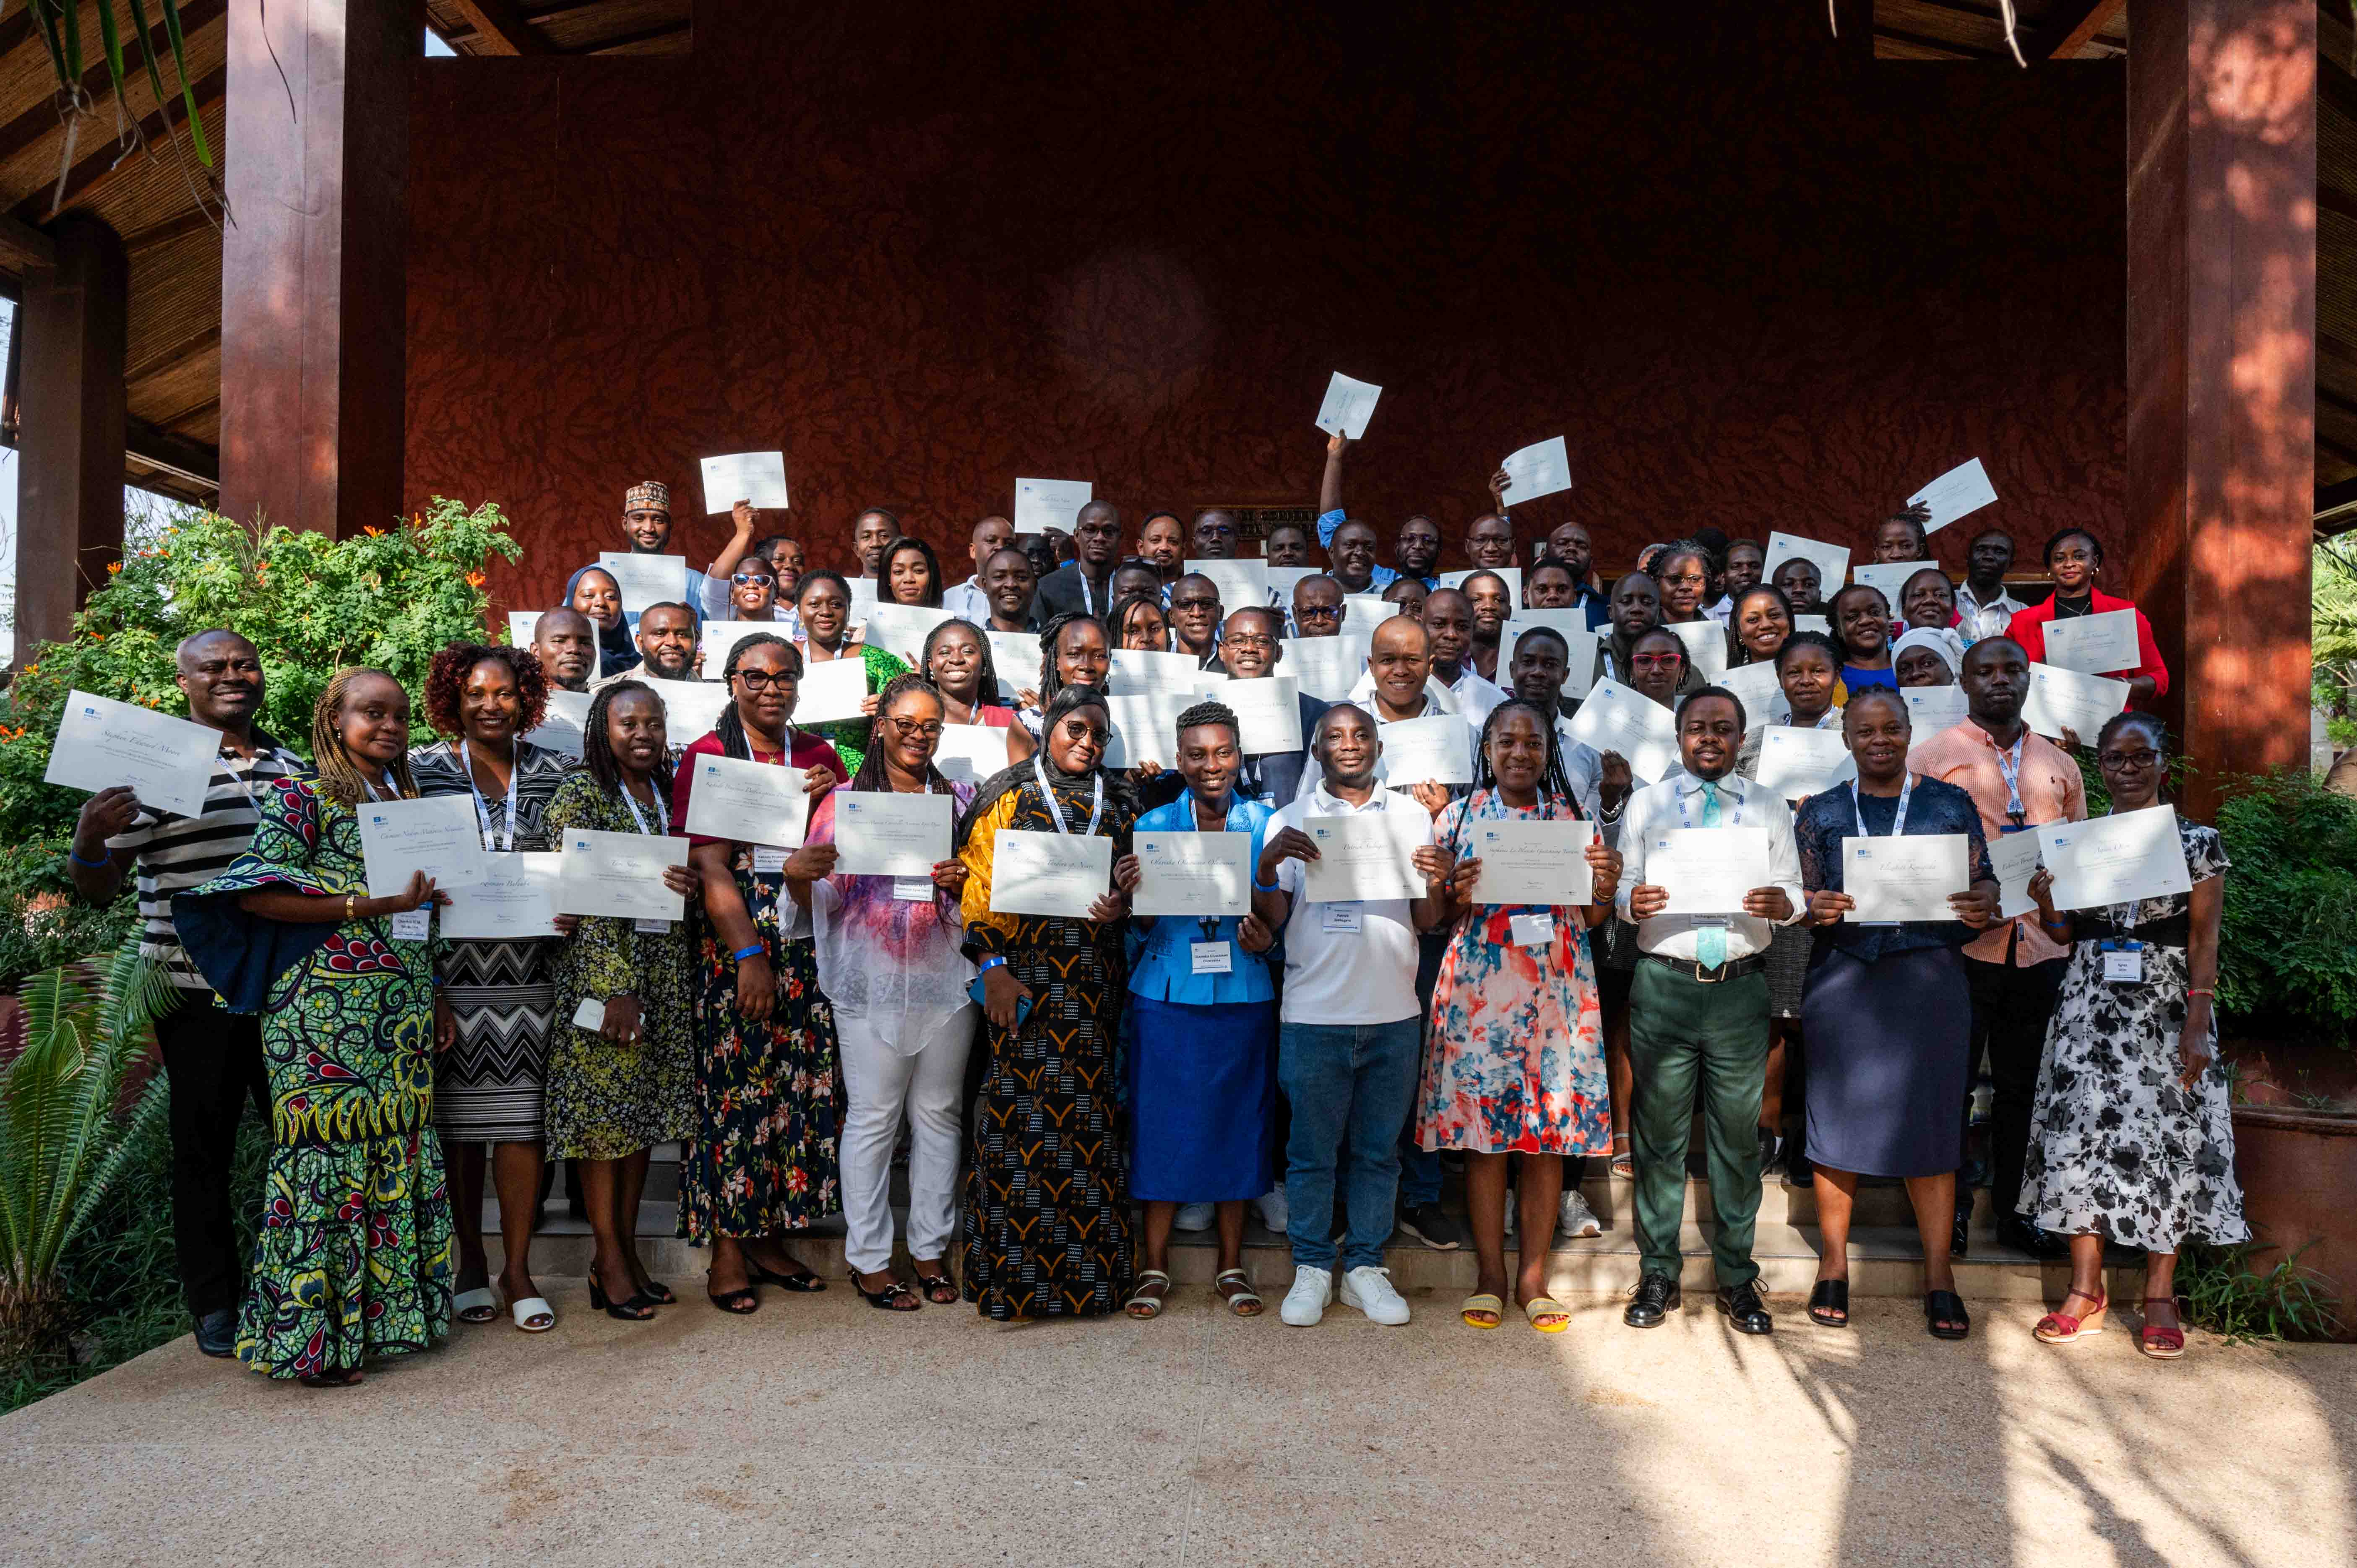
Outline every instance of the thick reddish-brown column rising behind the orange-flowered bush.
<path fill-rule="evenodd" d="M 229 7 L 231 516 L 342 538 L 401 514 L 410 71 L 422 47 L 417 0 Z"/>

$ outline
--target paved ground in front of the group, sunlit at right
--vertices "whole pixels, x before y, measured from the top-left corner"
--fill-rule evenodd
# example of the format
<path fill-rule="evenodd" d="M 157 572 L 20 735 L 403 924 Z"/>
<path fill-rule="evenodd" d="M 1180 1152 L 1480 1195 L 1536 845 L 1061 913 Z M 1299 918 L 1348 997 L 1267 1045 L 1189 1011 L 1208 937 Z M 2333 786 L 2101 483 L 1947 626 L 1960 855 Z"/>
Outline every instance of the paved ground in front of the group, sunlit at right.
<path fill-rule="evenodd" d="M 1334 1309 L 997 1327 L 841 1285 L 750 1320 L 493 1327 L 351 1391 L 184 1339 L 0 1419 L 0 1561 L 33 1563 L 2095 1563 L 2357 1561 L 2357 1351 L 2176 1365 L 2020 1304 L 1935 1344 L 1475 1335 Z M 691 1292 L 698 1280 L 674 1280 Z M 2124 1325 L 2121 1325 L 2124 1327 Z"/>

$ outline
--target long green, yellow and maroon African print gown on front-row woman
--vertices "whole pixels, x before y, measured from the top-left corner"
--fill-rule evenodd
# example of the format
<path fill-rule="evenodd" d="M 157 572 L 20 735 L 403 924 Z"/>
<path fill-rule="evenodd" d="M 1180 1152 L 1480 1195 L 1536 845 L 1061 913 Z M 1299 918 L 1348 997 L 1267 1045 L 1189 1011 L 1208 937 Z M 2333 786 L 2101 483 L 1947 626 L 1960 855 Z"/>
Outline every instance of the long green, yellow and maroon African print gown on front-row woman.
<path fill-rule="evenodd" d="M 252 844 L 184 901 L 368 896 L 351 806 L 285 778 Z M 292 936 L 233 915 L 257 941 Z M 273 931 L 264 931 L 273 927 Z M 450 1332 L 450 1198 L 434 1137 L 434 950 L 354 920 L 269 986 L 271 1160 L 238 1356 L 271 1377 L 422 1351 Z M 316 929 L 316 927 L 313 927 Z M 207 976 L 214 953 L 191 941 Z"/>

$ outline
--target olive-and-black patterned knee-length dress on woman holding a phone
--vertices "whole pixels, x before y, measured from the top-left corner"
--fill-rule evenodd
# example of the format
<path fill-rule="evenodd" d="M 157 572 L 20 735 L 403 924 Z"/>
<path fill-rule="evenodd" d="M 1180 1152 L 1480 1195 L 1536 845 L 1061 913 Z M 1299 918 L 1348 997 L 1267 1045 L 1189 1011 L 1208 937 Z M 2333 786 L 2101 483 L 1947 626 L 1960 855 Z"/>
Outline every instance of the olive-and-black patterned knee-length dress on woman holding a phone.
<path fill-rule="evenodd" d="M 655 825 L 653 811 L 641 816 Z M 563 844 L 568 828 L 639 832 L 639 821 L 620 795 L 608 795 L 589 773 L 575 773 L 556 788 L 547 828 Z M 549 1158 L 620 1160 L 688 1137 L 693 962 L 686 920 L 674 920 L 669 931 L 639 931 L 629 920 L 585 915 L 573 941 L 559 946 L 547 1078 Z M 639 1000 L 634 1045 L 573 1023 L 582 1000 L 618 995 Z"/>

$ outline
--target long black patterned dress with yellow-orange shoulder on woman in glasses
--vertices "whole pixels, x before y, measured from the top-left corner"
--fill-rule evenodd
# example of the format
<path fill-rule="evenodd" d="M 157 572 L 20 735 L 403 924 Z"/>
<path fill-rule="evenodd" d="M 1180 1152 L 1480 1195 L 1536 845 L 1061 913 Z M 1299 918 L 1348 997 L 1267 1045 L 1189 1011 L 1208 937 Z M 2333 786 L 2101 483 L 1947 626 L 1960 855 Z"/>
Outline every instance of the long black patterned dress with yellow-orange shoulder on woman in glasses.
<path fill-rule="evenodd" d="M 1087 832 L 1091 792 L 1056 797 L 1070 830 Z M 1129 828 L 1108 797 L 1096 832 L 1115 858 L 1129 851 Z M 1113 1313 L 1136 1278 L 1120 1103 L 1122 924 L 992 913 L 1002 832 L 1056 832 L 1037 780 L 988 804 L 959 849 L 966 950 L 976 962 L 1004 957 L 1035 997 L 1014 1033 L 985 1023 L 962 1203 L 966 1299 L 999 1320 Z"/>

